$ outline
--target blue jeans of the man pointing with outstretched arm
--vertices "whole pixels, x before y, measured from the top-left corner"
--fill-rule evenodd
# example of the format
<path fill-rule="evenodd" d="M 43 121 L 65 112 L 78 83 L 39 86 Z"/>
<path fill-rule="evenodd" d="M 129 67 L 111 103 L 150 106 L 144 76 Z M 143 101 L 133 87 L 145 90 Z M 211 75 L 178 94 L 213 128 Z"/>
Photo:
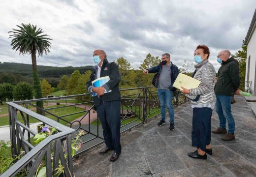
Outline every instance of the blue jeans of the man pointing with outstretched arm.
<path fill-rule="evenodd" d="M 165 120 L 165 103 L 168 108 L 168 113 L 170 117 L 170 123 L 174 123 L 174 110 L 172 106 L 172 91 L 168 89 L 158 89 L 158 98 L 160 100 L 161 107 L 161 117 Z"/>

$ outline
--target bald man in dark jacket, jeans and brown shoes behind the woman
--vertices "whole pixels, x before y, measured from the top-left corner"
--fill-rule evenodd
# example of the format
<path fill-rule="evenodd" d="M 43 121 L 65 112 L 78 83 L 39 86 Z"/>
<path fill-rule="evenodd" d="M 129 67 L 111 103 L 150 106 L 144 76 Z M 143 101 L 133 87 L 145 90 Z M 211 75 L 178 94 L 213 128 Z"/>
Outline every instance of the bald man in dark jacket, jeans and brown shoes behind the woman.
<path fill-rule="evenodd" d="M 215 134 L 225 134 L 224 141 L 235 139 L 235 120 L 231 113 L 231 98 L 234 94 L 240 94 L 239 67 L 228 50 L 222 50 L 218 54 L 217 61 L 221 63 L 218 71 L 218 80 L 215 85 L 216 94 L 216 112 L 220 119 L 220 127 L 213 130 Z M 226 120 L 228 131 L 226 131 Z"/>

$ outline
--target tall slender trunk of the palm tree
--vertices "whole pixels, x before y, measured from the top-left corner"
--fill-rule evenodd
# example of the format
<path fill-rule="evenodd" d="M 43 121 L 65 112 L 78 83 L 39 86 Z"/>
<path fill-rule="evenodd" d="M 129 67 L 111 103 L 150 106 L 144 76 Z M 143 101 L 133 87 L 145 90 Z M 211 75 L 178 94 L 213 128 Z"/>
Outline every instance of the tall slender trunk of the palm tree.
<path fill-rule="evenodd" d="M 35 50 L 32 50 L 31 58 L 32 58 L 32 69 L 33 69 L 33 78 L 34 78 L 35 97 L 36 98 L 42 98 L 42 91 L 41 91 L 41 86 L 40 86 L 40 82 L 39 82 L 39 76 L 38 76 L 38 73 L 37 73 L 36 51 Z M 42 101 L 37 101 L 36 106 L 43 109 L 43 102 Z M 42 115 L 43 110 L 41 110 L 40 108 L 36 109 L 36 113 Z"/>

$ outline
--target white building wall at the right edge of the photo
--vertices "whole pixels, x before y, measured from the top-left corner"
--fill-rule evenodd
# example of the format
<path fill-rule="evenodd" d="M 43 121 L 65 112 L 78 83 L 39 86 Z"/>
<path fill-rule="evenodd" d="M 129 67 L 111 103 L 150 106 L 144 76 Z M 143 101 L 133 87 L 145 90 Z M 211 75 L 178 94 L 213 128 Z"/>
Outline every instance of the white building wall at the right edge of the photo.
<path fill-rule="evenodd" d="M 248 60 L 250 56 L 250 70 L 249 79 L 247 78 L 248 73 Z M 245 81 L 252 81 L 252 93 L 256 96 L 256 29 L 247 45 L 247 59 L 246 59 L 246 78 Z"/>

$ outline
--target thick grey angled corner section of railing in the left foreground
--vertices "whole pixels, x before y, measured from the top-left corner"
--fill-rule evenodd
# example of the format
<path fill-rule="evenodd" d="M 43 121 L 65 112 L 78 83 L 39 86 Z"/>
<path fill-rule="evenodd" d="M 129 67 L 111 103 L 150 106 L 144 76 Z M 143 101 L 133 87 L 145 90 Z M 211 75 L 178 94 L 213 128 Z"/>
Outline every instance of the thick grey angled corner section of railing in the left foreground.
<path fill-rule="evenodd" d="M 52 169 L 56 169 L 59 164 L 59 160 L 64 167 L 64 173 L 66 177 L 71 177 L 72 170 L 72 157 L 71 157 L 71 134 L 75 131 L 72 128 L 66 127 L 59 122 L 46 118 L 39 114 L 32 112 L 16 103 L 8 102 L 9 110 L 9 126 L 10 126 L 10 138 L 11 138 L 11 152 L 13 157 L 21 154 L 21 150 L 25 151 L 25 155 L 15 165 L 11 166 L 2 177 L 13 177 L 18 174 L 22 169 L 26 168 L 29 171 L 27 177 L 33 177 L 40 162 L 43 158 L 46 161 L 46 175 L 51 177 L 53 174 Z M 18 120 L 17 112 L 20 112 L 23 122 Z M 30 128 L 30 118 L 36 118 L 43 122 L 45 125 L 49 125 L 58 130 L 51 136 L 45 138 L 38 146 L 33 146 L 31 143 L 31 135 L 37 134 Z M 25 138 L 25 133 L 28 135 L 28 139 Z M 67 159 L 64 158 L 63 150 L 60 150 L 66 142 Z M 54 150 L 53 167 L 51 166 L 52 155 L 51 150 Z"/>

